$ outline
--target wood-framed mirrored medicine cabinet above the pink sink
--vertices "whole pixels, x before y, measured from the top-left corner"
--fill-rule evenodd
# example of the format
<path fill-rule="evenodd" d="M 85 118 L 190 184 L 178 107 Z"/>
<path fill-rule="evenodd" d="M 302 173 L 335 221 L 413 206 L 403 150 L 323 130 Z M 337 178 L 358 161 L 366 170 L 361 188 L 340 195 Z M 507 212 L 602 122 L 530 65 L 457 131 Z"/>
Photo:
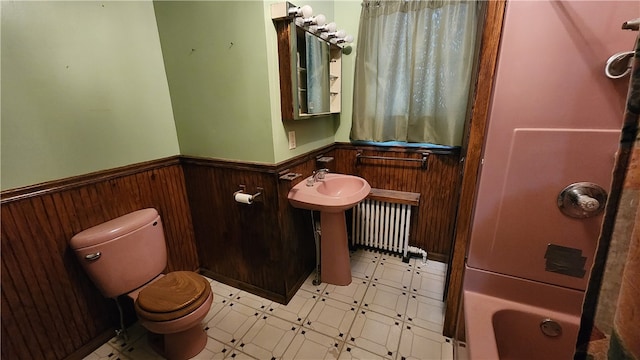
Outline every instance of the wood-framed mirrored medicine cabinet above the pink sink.
<path fill-rule="evenodd" d="M 273 7 L 287 5 L 290 4 Z M 296 25 L 292 17 L 278 17 L 278 10 L 273 7 L 282 119 L 301 120 L 339 113 L 342 48 Z M 286 9 L 281 12 L 286 14 Z"/>

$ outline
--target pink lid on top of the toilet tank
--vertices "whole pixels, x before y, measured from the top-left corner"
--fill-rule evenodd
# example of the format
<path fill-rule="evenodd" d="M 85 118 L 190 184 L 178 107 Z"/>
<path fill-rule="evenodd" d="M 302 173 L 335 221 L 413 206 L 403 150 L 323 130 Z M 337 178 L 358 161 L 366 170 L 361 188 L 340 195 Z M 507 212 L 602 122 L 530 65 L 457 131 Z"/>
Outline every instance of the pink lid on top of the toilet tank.
<path fill-rule="evenodd" d="M 158 218 L 156 209 L 142 209 L 83 230 L 71 238 L 72 249 L 82 249 L 118 238 L 135 231 Z"/>

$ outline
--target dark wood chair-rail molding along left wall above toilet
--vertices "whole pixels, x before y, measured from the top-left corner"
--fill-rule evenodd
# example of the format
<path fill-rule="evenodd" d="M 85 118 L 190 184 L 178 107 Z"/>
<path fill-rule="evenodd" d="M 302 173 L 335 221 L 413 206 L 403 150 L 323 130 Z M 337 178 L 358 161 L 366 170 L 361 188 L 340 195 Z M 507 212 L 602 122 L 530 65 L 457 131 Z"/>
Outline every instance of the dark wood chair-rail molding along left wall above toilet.
<path fill-rule="evenodd" d="M 17 200 L 27 199 L 45 194 L 52 194 L 64 190 L 74 189 L 90 184 L 96 184 L 99 182 L 116 179 L 123 176 L 136 174 L 147 170 L 176 165 L 179 163 L 180 157 L 178 155 L 175 155 L 167 158 L 121 166 L 118 168 L 96 171 L 89 174 L 72 176 L 35 185 L 9 189 L 0 192 L 0 203 L 7 204 Z"/>

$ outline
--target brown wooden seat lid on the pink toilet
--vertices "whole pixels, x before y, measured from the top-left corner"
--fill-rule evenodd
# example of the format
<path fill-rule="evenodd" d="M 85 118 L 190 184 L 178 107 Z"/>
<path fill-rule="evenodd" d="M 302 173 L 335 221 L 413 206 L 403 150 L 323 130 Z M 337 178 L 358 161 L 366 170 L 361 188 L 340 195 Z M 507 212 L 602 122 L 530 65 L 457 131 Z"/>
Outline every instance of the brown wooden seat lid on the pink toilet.
<path fill-rule="evenodd" d="M 204 277 L 192 271 L 174 271 L 142 289 L 135 308 L 146 320 L 175 320 L 192 313 L 210 293 Z"/>

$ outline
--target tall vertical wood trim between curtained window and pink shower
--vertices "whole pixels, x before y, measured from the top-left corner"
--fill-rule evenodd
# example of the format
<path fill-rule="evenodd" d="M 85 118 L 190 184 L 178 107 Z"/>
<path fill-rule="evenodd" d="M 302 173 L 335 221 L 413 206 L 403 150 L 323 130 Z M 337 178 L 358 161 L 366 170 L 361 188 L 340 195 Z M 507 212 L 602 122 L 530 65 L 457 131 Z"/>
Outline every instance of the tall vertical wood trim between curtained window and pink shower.
<path fill-rule="evenodd" d="M 500 35 L 504 20 L 506 1 L 488 1 L 487 14 L 482 33 L 480 50 L 480 68 L 478 82 L 473 99 L 473 110 L 469 128 L 469 139 L 462 170 L 460 202 L 456 219 L 453 252 L 449 268 L 449 291 L 446 298 L 443 334 L 456 337 L 456 324 L 462 295 L 462 278 L 471 231 L 473 203 L 476 197 L 476 184 L 482 160 L 482 145 L 489 117 L 494 75 L 498 61 Z"/>

